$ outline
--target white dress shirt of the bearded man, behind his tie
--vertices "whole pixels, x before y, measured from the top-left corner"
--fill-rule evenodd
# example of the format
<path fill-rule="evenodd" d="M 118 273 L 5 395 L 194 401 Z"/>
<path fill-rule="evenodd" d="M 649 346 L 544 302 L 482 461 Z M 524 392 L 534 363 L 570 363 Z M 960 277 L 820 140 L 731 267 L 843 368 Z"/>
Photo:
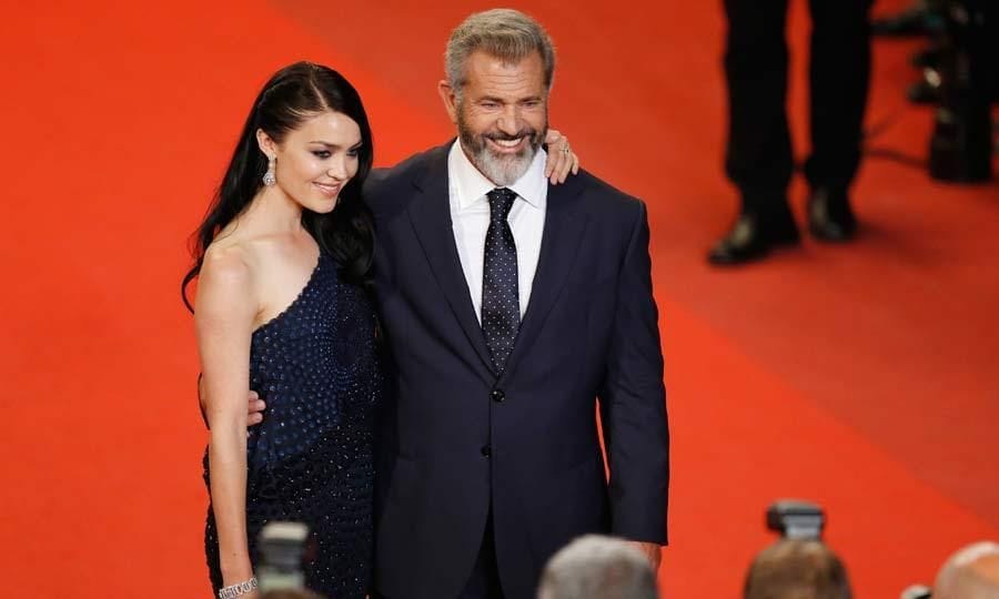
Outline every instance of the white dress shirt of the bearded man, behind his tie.
<path fill-rule="evenodd" d="M 541 256 L 541 242 L 545 229 L 545 206 L 548 197 L 548 180 L 545 177 L 545 151 L 538 149 L 534 161 L 508 189 L 517 194 L 506 221 L 517 245 L 517 292 L 521 318 L 531 301 L 531 286 Z M 447 181 L 451 196 L 451 223 L 454 244 L 462 261 L 462 271 L 472 294 L 475 316 L 482 322 L 482 271 L 485 260 L 485 234 L 490 227 L 490 200 L 486 193 L 496 184 L 485 177 L 465 155 L 455 140 L 447 154 Z"/>

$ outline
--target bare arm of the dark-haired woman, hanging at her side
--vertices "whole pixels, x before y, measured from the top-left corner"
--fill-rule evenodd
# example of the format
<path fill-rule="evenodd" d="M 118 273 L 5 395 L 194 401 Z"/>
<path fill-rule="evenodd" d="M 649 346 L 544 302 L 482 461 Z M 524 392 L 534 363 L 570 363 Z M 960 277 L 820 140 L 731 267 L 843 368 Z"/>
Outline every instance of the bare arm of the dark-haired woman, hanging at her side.
<path fill-rule="evenodd" d="M 251 274 L 236 248 L 210 251 L 194 311 L 211 428 L 209 483 L 226 586 L 253 576 L 246 544 L 246 394 L 250 337 L 259 303 Z"/>

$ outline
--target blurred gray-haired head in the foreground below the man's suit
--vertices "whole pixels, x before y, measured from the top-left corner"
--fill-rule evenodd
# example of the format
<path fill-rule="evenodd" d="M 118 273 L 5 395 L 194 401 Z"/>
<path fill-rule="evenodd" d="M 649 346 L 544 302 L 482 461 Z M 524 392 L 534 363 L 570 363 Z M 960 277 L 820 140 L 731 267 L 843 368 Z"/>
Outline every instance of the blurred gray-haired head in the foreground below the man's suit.
<path fill-rule="evenodd" d="M 579 537 L 545 566 L 538 599 L 656 599 L 648 559 L 627 541 L 598 535 Z"/>

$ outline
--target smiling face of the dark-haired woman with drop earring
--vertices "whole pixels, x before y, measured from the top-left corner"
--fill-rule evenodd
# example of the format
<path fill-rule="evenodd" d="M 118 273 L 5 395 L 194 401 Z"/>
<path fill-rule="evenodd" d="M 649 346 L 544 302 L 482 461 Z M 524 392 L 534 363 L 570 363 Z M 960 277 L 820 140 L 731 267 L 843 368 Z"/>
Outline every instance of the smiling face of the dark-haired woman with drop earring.
<path fill-rule="evenodd" d="M 261 148 L 276 159 L 278 186 L 303 209 L 331 212 L 357 174 L 361 128 L 341 112 L 323 112 L 290 131 L 281 144 L 261 132 Z"/>

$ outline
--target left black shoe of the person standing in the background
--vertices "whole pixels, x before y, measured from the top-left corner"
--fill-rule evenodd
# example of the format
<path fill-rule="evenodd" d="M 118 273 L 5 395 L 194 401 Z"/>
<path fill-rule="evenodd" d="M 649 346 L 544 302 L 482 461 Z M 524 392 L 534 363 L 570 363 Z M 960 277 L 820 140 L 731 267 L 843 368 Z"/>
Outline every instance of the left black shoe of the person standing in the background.
<path fill-rule="evenodd" d="M 774 247 L 794 245 L 798 238 L 790 212 L 777 217 L 743 212 L 731 231 L 712 247 L 707 258 L 716 266 L 744 264 L 764 257 Z"/>

